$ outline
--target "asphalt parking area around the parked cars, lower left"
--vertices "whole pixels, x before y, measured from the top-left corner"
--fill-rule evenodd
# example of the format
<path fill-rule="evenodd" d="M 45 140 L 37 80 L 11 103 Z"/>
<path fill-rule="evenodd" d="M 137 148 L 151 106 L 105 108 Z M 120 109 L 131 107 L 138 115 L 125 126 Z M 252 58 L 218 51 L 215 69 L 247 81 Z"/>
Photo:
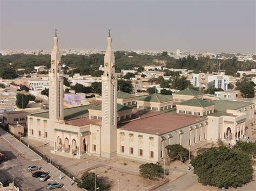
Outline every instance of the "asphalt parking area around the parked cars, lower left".
<path fill-rule="evenodd" d="M 19 155 L 18 151 L 11 147 L 2 137 L 0 137 L 0 151 L 8 155 L 9 160 L 5 160 L 0 164 L 0 181 L 12 182 L 14 179 L 15 185 L 20 190 L 47 190 L 46 185 L 49 183 L 41 182 L 37 178 L 32 177 L 32 173 L 26 171 L 28 165 L 43 165 L 42 160 L 31 161 Z M 54 182 L 54 181 L 51 181 Z M 65 188 L 57 188 L 55 190 L 66 190 Z"/>

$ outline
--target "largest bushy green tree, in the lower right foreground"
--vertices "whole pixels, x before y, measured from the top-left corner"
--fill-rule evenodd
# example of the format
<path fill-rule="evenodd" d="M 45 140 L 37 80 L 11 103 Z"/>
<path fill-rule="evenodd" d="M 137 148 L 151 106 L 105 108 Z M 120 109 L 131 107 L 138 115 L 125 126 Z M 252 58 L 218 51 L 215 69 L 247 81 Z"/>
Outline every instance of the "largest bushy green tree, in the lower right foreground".
<path fill-rule="evenodd" d="M 194 173 L 203 185 L 216 187 L 241 187 L 252 180 L 250 156 L 227 147 L 212 147 L 192 159 Z"/>

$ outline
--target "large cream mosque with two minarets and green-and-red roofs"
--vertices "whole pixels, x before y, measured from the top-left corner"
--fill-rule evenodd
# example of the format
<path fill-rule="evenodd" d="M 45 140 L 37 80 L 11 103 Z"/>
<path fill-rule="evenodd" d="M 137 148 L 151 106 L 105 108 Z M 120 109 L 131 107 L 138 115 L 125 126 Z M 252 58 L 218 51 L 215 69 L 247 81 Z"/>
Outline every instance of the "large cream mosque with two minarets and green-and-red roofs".
<path fill-rule="evenodd" d="M 205 101 L 203 94 L 193 89 L 172 96 L 142 97 L 117 91 L 110 33 L 104 57 L 102 101 L 64 109 L 57 34 L 53 42 L 49 111 L 28 116 L 28 137 L 49 143 L 54 154 L 77 159 L 95 155 L 157 162 L 167 157 L 167 145 L 180 144 L 193 150 L 218 138 L 235 143 L 254 123 L 251 102 Z"/>

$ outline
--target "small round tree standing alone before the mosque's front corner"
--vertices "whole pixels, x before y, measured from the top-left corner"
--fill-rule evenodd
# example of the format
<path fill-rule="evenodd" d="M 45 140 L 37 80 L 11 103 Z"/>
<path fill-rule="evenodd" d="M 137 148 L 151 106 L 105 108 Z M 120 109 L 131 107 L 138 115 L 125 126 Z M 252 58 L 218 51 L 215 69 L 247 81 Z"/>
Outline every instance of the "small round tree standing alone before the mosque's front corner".
<path fill-rule="evenodd" d="M 139 173 L 146 179 L 161 178 L 164 175 L 164 169 L 161 165 L 146 163 L 139 166 Z"/>

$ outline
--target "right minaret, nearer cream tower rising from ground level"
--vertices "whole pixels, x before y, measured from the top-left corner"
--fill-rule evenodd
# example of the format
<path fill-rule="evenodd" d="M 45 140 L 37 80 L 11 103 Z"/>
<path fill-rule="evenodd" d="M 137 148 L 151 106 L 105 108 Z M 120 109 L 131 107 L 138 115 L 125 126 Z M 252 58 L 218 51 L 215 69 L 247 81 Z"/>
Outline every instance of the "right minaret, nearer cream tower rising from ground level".
<path fill-rule="evenodd" d="M 102 75 L 102 135 L 101 156 L 116 157 L 117 154 L 117 79 L 114 72 L 114 53 L 112 38 L 107 37 L 107 49 L 104 57 Z"/>

